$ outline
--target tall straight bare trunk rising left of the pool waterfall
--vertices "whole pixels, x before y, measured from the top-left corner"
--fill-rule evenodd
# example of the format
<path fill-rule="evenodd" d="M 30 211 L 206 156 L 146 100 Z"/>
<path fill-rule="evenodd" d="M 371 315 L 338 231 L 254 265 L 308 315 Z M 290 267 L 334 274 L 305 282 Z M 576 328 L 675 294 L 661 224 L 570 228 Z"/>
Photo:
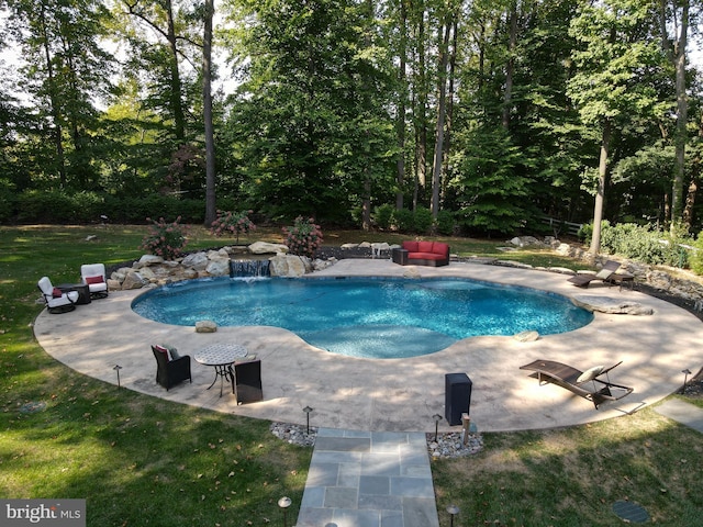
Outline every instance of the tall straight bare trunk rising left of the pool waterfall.
<path fill-rule="evenodd" d="M 212 19 L 214 0 L 205 0 L 205 20 L 202 41 L 202 108 L 205 125 L 205 225 L 216 217 L 215 198 L 215 139 L 212 122 Z"/>

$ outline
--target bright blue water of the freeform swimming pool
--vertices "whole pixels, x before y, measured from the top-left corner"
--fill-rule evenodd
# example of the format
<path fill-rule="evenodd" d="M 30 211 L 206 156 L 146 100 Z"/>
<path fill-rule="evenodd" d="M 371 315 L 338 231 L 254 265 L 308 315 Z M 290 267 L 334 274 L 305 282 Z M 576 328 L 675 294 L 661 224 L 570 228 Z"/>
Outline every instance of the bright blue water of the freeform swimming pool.
<path fill-rule="evenodd" d="M 165 324 L 277 326 L 335 354 L 402 358 L 480 335 L 550 335 L 589 324 L 568 299 L 464 279 L 204 279 L 149 291 L 132 303 Z"/>

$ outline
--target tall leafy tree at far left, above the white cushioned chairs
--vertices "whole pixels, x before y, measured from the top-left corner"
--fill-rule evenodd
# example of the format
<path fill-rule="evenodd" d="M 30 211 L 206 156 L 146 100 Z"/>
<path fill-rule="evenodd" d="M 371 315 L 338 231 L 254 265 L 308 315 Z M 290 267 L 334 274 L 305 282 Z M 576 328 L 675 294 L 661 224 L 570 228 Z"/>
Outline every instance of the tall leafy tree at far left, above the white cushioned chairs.
<path fill-rule="evenodd" d="M 38 165 L 62 187 L 92 186 L 96 103 L 111 89 L 113 60 L 101 47 L 109 13 L 97 0 L 8 0 L 7 7 L 26 61 L 19 72 L 36 110 L 36 130 L 54 145 L 52 158 Z"/>

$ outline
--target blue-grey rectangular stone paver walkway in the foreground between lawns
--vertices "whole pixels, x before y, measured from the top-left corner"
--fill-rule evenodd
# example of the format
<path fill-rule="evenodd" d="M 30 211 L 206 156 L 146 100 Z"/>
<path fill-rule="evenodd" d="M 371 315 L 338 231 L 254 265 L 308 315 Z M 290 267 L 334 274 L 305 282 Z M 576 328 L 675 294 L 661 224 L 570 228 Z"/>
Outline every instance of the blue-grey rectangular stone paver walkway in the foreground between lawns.
<path fill-rule="evenodd" d="M 438 527 L 422 433 L 317 431 L 297 527 Z"/>

